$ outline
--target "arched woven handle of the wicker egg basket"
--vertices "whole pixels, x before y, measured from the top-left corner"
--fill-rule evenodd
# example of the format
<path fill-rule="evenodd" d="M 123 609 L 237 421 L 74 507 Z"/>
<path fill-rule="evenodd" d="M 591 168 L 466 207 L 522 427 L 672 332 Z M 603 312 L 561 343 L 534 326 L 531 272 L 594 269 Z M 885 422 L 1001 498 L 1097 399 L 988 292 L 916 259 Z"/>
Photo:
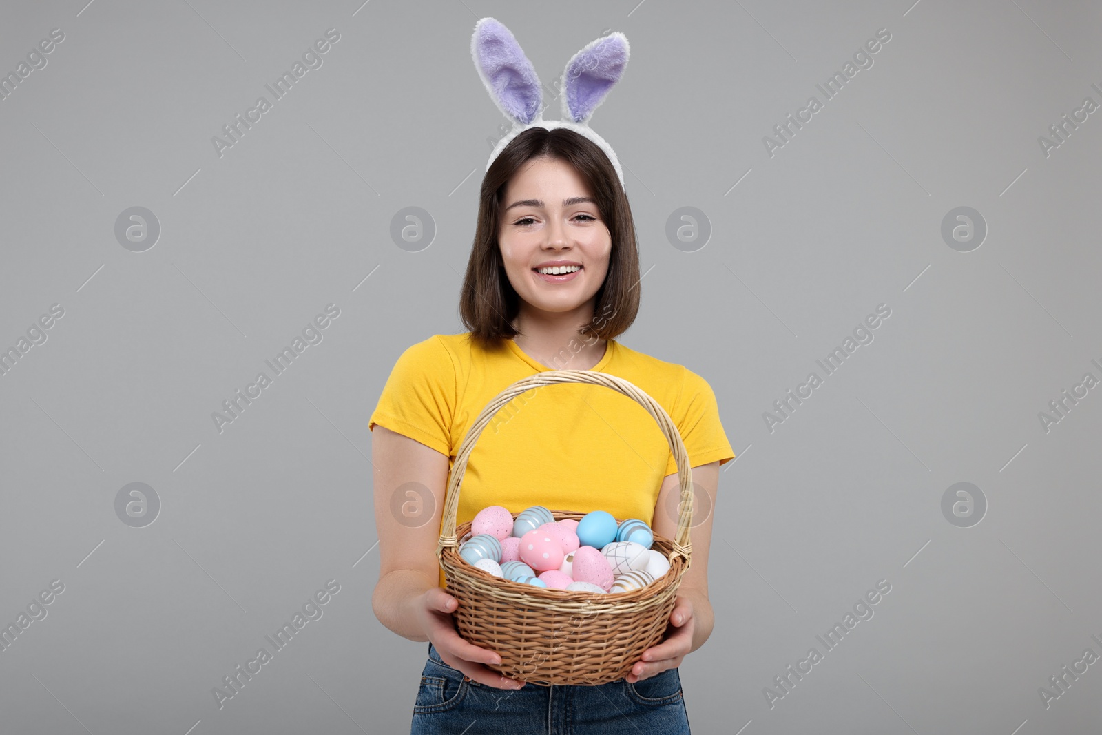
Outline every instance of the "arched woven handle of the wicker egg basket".
<path fill-rule="evenodd" d="M 483 408 L 482 412 L 467 429 L 466 435 L 460 444 L 460 451 L 455 455 L 455 464 L 452 466 L 452 474 L 447 479 L 447 488 L 444 498 L 444 519 L 440 530 L 440 540 L 436 544 L 436 559 L 441 559 L 445 547 L 456 547 L 455 538 L 455 514 L 460 507 L 460 485 L 467 471 L 467 458 L 475 448 L 475 443 L 482 435 L 486 424 L 497 415 L 497 412 L 517 396 L 527 392 L 531 387 L 550 386 L 557 382 L 583 382 L 594 386 L 605 386 L 615 391 L 624 393 L 633 399 L 658 422 L 659 429 L 669 442 L 673 460 L 678 465 L 678 480 L 681 484 L 681 502 L 678 504 L 678 530 L 673 537 L 673 545 L 670 552 L 670 561 L 674 554 L 685 560 L 685 569 L 692 553 L 692 542 L 689 539 L 689 528 L 692 522 L 692 468 L 689 466 L 689 453 L 685 451 L 681 434 L 678 433 L 673 420 L 653 398 L 648 396 L 637 386 L 607 372 L 596 370 L 544 370 L 534 375 L 521 378 L 500 393 Z M 651 521 L 653 522 L 653 521 Z"/>

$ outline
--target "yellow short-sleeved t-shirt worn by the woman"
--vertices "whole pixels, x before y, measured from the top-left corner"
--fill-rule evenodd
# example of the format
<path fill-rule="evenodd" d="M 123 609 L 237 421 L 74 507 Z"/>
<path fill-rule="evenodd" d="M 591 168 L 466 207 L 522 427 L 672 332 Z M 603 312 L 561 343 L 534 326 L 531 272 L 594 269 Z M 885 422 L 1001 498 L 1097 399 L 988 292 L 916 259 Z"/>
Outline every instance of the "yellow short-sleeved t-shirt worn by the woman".
<path fill-rule="evenodd" d="M 368 423 L 447 455 L 449 473 L 486 404 L 517 380 L 552 369 L 511 339 L 484 349 L 468 336 L 437 334 L 402 353 Z M 634 383 L 666 409 L 691 467 L 735 457 L 715 393 L 688 368 L 609 339 L 592 369 Z M 455 526 L 491 505 L 511 512 L 533 505 L 606 510 L 652 523 L 662 479 L 677 472 L 658 423 L 635 400 L 605 386 L 542 386 L 514 398 L 486 424 L 458 488 Z"/>

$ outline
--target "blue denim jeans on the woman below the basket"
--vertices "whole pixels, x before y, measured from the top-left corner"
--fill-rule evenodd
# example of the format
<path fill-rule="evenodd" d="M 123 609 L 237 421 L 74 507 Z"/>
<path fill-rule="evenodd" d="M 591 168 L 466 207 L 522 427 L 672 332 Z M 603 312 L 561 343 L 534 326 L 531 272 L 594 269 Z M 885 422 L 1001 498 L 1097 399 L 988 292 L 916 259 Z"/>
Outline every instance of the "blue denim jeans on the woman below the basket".
<path fill-rule="evenodd" d="M 629 683 L 525 684 L 497 689 L 464 679 L 429 644 L 411 735 L 685 735 L 689 714 L 677 669 Z"/>

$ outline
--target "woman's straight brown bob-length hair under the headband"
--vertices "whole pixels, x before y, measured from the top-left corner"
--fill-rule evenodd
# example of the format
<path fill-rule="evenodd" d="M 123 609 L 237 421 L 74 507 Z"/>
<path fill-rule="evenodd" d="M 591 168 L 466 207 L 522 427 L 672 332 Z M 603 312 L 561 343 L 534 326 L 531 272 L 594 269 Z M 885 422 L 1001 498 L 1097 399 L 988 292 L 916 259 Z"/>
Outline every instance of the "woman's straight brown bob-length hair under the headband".
<path fill-rule="evenodd" d="M 497 233 L 506 184 L 527 161 L 540 156 L 564 161 L 577 171 L 612 236 L 608 273 L 597 290 L 593 320 L 581 325 L 581 333 L 613 339 L 631 326 L 639 312 L 639 246 L 631 207 L 612 162 L 573 130 L 529 128 L 509 141 L 483 177 L 475 241 L 460 292 L 463 324 L 473 339 L 487 347 L 518 334 L 512 321 L 520 312 L 520 296 L 505 272 Z"/>

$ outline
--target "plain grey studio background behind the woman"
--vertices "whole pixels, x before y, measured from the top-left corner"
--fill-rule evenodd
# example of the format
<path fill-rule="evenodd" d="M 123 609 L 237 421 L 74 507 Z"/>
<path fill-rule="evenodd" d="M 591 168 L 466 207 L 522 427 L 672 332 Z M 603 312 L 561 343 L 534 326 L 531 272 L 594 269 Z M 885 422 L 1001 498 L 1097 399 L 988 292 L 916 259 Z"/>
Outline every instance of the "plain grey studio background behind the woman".
<path fill-rule="evenodd" d="M 398 355 L 463 331 L 477 188 L 504 120 L 474 23 L 545 85 L 606 32 L 631 44 L 592 125 L 625 166 L 642 309 L 629 347 L 699 372 L 738 460 L 710 565 L 715 630 L 681 667 L 694 732 L 1093 732 L 1102 663 L 1096 3 L 6 3 L 0 71 L 65 40 L 0 101 L 3 733 L 398 733 L 425 644 L 383 628 L 367 421 Z M 326 29 L 339 42 L 219 158 L 210 138 Z M 877 29 L 874 64 L 770 156 L 774 125 Z M 547 116 L 558 118 L 558 102 Z M 735 185 L 737 183 L 737 185 Z M 115 221 L 142 206 L 154 247 Z M 404 207 L 431 245 L 390 237 Z M 693 252 L 667 220 L 699 208 Z M 960 252 L 947 213 L 987 227 Z M 366 279 L 366 280 L 365 280 Z M 219 432 L 212 413 L 326 304 L 339 316 Z M 880 303 L 892 315 L 775 431 L 763 413 Z M 822 374 L 821 370 L 818 370 Z M 116 496 L 145 483 L 156 520 Z M 973 483 L 979 525 L 941 511 Z M 341 591 L 218 709 L 212 689 L 335 579 Z M 892 592 L 790 693 L 877 580 Z"/>

